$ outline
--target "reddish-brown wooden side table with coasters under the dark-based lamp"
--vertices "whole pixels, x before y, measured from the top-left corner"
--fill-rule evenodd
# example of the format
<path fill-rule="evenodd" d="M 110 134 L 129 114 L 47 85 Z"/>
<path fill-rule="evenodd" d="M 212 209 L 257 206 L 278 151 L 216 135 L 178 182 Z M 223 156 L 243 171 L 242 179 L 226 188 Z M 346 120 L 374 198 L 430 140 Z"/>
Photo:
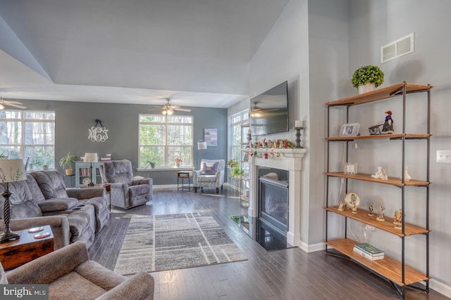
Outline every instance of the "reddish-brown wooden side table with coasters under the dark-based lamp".
<path fill-rule="evenodd" d="M 37 259 L 54 251 L 54 234 L 49 225 L 40 226 L 43 229 L 36 233 L 23 230 L 18 240 L 0 244 L 0 261 L 5 270 L 17 268 L 28 261 Z M 35 235 L 50 233 L 47 237 L 35 238 Z"/>

